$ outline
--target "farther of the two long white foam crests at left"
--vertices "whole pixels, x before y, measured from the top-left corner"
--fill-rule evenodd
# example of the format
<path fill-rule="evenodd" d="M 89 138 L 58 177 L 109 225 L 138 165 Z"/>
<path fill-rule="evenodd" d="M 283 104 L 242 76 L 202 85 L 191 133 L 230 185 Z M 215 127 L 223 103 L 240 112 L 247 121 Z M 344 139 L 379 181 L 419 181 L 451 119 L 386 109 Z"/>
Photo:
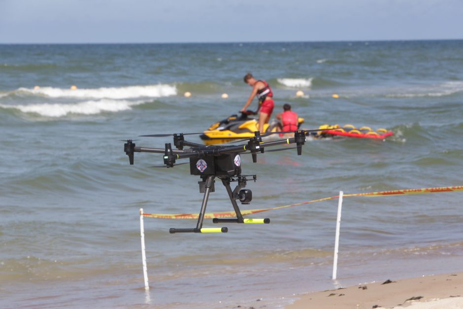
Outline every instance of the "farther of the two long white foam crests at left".
<path fill-rule="evenodd" d="M 160 98 L 174 96 L 177 88 L 172 85 L 159 84 L 147 86 L 111 87 L 96 89 L 63 89 L 54 87 L 40 87 L 38 89 L 19 88 L 17 91 L 44 95 L 50 98 L 92 98 L 92 99 L 135 99 Z"/>

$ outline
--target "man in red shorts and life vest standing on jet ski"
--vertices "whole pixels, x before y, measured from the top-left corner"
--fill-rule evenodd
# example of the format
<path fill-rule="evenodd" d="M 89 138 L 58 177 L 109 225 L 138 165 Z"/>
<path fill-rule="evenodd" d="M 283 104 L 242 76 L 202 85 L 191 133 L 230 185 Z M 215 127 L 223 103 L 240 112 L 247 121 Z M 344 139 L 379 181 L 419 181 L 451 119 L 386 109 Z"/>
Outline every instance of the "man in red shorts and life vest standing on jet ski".
<path fill-rule="evenodd" d="M 244 82 L 252 87 L 251 95 L 249 96 L 248 101 L 244 104 L 244 107 L 240 111 L 246 111 L 246 108 L 251 104 L 254 96 L 257 96 L 259 100 L 259 131 L 264 133 L 264 124 L 268 123 L 270 120 L 270 116 L 273 111 L 273 106 L 275 103 L 273 102 L 273 92 L 270 86 L 267 84 L 265 80 L 257 80 L 252 76 L 251 73 L 247 73 L 244 76 Z"/>

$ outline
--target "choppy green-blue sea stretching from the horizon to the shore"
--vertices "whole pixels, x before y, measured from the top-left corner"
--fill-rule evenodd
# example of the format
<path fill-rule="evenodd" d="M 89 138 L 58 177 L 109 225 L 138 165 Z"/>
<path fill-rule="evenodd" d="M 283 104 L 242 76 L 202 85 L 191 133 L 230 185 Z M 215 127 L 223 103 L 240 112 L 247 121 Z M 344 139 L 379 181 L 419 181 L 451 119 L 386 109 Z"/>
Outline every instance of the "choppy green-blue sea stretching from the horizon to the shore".
<path fill-rule="evenodd" d="M 248 72 L 272 87 L 272 118 L 289 103 L 305 129 L 394 136 L 242 154 L 257 180 L 241 209 L 463 185 L 463 40 L 1 44 L 0 307 L 283 308 L 306 292 L 463 271 L 462 192 L 345 197 L 335 280 L 332 199 L 247 216 L 270 224 L 204 220 L 228 233 L 170 234 L 197 220 L 145 217 L 145 290 L 139 209 L 198 213 L 201 179 L 187 164 L 152 168 L 163 154 L 130 165 L 124 140 L 164 148 L 172 136 L 140 136 L 237 114 Z M 216 181 L 206 212 L 220 211 L 232 205 Z"/>

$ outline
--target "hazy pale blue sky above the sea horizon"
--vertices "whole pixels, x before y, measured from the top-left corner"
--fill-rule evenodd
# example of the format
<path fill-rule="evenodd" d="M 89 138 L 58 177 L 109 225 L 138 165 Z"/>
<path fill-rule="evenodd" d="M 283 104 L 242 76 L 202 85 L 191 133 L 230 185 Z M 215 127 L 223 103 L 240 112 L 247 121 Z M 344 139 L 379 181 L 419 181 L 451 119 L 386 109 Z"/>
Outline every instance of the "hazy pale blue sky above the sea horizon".
<path fill-rule="evenodd" d="M 462 39 L 463 0 L 0 0 L 0 43 Z"/>

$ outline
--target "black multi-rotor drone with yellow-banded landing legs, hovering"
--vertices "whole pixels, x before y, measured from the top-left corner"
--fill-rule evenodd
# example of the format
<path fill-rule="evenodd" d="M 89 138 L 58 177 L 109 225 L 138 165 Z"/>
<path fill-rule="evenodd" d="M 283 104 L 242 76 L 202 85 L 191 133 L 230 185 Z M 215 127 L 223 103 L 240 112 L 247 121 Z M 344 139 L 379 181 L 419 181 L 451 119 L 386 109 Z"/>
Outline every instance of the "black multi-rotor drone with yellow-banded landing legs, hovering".
<path fill-rule="evenodd" d="M 164 154 L 164 165 L 156 166 L 156 168 L 173 168 L 174 166 L 187 164 L 176 163 L 181 159 L 190 159 L 190 173 L 195 176 L 199 176 L 201 181 L 198 181 L 199 192 L 204 193 L 202 199 L 201 208 L 198 215 L 198 223 L 196 228 L 190 229 L 169 229 L 169 233 L 227 233 L 228 228 L 203 228 L 202 224 L 204 221 L 204 214 L 206 212 L 206 206 L 211 192 L 215 192 L 215 178 L 222 181 L 225 186 L 227 193 L 232 202 L 233 209 L 236 213 L 236 219 L 225 219 L 225 218 L 214 218 L 213 223 L 270 223 L 269 218 L 265 219 L 249 219 L 243 218 L 241 211 L 236 201 L 240 201 L 241 204 L 249 204 L 252 200 L 252 192 L 248 189 L 243 189 L 246 186 L 248 180 L 257 180 L 257 175 L 242 175 L 241 174 L 241 154 L 251 154 L 253 163 L 257 163 L 257 154 L 271 151 L 280 151 L 288 149 L 297 149 L 298 155 L 302 154 L 302 145 L 306 141 L 306 134 L 310 132 L 321 131 L 324 129 L 315 130 L 296 130 L 296 131 L 283 131 L 283 132 L 271 132 L 260 134 L 259 131 L 254 132 L 254 137 L 249 137 L 236 143 L 242 143 L 238 145 L 203 145 L 185 140 L 186 135 L 195 135 L 202 133 L 180 133 L 173 134 L 173 145 L 176 149 L 172 149 L 171 143 L 165 143 L 164 148 L 146 148 L 138 147 L 133 143 L 132 139 L 123 140 L 126 141 L 124 144 L 124 152 L 129 156 L 129 163 L 133 165 L 133 157 L 135 152 L 151 152 L 151 153 L 163 153 Z M 263 142 L 262 138 L 272 134 L 294 134 L 294 137 L 286 139 L 278 139 L 272 141 Z M 154 134 L 154 135 L 142 135 L 140 137 L 168 137 L 172 134 Z M 245 142 L 245 143 L 244 143 Z M 267 147 L 283 145 L 283 144 L 296 144 L 296 147 L 269 149 Z M 184 149 L 185 147 L 190 147 Z M 248 178 L 252 177 L 252 178 Z M 231 183 L 236 182 L 236 187 L 232 190 Z"/>

